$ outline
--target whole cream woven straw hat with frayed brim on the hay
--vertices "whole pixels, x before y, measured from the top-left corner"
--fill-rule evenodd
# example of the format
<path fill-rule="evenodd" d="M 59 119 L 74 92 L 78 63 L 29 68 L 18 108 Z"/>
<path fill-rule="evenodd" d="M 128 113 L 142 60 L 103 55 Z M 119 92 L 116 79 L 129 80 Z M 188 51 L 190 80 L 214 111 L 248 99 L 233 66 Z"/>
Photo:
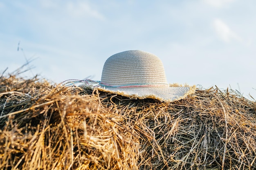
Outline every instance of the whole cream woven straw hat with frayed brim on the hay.
<path fill-rule="evenodd" d="M 168 84 L 162 61 L 151 53 L 124 51 L 110 56 L 102 70 L 99 91 L 173 102 L 195 93 L 195 86 Z"/>

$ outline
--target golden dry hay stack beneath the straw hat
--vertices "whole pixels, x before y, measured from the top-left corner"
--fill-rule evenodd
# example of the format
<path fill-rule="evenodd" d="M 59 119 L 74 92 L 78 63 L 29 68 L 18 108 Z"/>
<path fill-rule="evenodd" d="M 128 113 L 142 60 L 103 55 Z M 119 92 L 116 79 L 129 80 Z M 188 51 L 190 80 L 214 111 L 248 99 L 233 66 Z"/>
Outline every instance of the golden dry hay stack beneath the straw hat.
<path fill-rule="evenodd" d="M 256 169 L 256 103 L 197 89 L 161 103 L 0 78 L 0 169 Z"/>

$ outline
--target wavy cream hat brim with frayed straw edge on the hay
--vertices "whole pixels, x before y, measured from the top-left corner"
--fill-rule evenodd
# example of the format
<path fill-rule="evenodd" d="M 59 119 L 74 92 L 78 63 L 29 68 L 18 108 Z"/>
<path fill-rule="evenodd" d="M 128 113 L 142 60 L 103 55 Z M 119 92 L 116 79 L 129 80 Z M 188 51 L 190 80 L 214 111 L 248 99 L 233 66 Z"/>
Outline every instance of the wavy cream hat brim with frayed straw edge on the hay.
<path fill-rule="evenodd" d="M 195 93 L 195 86 L 172 84 L 169 87 L 111 88 L 95 87 L 99 91 L 114 93 L 131 99 L 157 99 L 161 102 L 174 102 Z"/>

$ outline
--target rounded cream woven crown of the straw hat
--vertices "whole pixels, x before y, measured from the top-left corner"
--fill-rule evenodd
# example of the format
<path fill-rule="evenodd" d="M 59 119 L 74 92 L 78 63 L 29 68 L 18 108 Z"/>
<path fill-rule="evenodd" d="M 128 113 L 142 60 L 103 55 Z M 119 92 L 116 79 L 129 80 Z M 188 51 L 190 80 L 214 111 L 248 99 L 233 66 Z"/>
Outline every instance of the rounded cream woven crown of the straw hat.
<path fill-rule="evenodd" d="M 148 52 L 131 50 L 110 56 L 102 70 L 101 83 L 110 86 L 127 84 L 167 84 L 162 61 Z"/>

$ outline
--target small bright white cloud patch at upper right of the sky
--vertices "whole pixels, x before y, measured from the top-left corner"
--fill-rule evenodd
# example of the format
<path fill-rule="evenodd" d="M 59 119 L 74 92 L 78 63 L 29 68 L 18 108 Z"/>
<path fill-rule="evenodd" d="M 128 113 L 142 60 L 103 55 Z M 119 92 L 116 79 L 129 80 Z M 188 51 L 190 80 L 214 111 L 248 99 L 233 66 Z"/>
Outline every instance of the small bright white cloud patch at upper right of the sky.
<path fill-rule="evenodd" d="M 230 42 L 231 40 L 240 40 L 239 36 L 232 31 L 229 26 L 223 22 L 220 19 L 215 19 L 213 21 L 213 26 L 214 29 L 218 35 L 218 37 L 225 41 L 225 42 Z"/>

